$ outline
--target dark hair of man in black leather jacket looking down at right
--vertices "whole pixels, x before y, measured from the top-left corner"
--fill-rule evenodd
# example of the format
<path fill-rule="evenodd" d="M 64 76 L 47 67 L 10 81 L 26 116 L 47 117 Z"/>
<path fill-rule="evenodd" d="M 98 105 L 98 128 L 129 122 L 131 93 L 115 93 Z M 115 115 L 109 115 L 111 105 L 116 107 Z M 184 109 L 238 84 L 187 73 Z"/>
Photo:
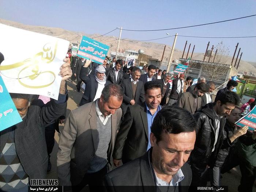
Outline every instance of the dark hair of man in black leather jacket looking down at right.
<path fill-rule="evenodd" d="M 220 101 L 221 105 L 226 103 L 233 103 L 234 105 L 240 104 L 239 96 L 233 91 L 225 91 L 218 94 L 218 97 L 215 98 L 215 102 Z"/>

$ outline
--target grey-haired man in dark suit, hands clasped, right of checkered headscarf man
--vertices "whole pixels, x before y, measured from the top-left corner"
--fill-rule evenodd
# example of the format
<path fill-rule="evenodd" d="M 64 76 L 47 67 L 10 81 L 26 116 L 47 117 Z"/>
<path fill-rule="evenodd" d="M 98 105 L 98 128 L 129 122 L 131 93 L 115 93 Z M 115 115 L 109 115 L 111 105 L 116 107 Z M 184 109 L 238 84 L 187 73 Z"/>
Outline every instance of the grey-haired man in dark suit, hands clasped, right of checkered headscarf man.
<path fill-rule="evenodd" d="M 144 99 L 144 85 L 143 82 L 139 80 L 141 70 L 138 67 L 134 67 L 131 73 L 131 78 L 124 79 L 121 87 L 124 91 L 123 103 L 121 109 L 123 111 L 122 120 L 124 119 L 124 114 L 128 106 L 137 105 L 145 101 Z"/>

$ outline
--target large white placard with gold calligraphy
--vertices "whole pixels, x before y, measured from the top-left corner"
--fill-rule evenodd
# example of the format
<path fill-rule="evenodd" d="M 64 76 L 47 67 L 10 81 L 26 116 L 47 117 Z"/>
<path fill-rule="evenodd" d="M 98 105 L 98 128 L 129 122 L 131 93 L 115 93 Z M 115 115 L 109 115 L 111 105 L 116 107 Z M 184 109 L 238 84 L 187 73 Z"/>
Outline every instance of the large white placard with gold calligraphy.
<path fill-rule="evenodd" d="M 58 75 L 69 42 L 0 24 L 0 75 L 9 93 L 44 95 L 58 99 Z"/>

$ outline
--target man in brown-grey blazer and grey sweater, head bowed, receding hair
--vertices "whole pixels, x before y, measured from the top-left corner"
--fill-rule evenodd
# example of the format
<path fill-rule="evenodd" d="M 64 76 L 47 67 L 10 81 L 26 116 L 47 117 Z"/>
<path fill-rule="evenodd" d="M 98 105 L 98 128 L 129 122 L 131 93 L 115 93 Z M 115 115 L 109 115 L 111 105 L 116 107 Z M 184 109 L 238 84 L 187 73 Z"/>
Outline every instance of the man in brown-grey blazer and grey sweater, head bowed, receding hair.
<path fill-rule="evenodd" d="M 109 84 L 94 102 L 70 112 L 59 140 L 57 168 L 59 184 L 80 191 L 102 185 L 111 170 L 111 156 L 121 119 L 123 91 Z"/>

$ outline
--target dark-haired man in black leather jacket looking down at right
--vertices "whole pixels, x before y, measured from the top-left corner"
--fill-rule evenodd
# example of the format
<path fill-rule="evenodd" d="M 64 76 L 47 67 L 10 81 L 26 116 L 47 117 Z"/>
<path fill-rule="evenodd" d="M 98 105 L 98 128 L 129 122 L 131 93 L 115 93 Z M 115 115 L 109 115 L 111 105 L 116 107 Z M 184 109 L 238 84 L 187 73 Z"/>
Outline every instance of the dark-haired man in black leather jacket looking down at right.
<path fill-rule="evenodd" d="M 198 110 L 194 117 L 199 124 L 195 149 L 191 153 L 191 169 L 193 186 L 207 184 L 202 173 L 207 166 L 213 167 L 223 141 L 225 116 L 239 104 L 240 98 L 231 91 L 222 92 L 215 103 L 208 103 Z"/>

